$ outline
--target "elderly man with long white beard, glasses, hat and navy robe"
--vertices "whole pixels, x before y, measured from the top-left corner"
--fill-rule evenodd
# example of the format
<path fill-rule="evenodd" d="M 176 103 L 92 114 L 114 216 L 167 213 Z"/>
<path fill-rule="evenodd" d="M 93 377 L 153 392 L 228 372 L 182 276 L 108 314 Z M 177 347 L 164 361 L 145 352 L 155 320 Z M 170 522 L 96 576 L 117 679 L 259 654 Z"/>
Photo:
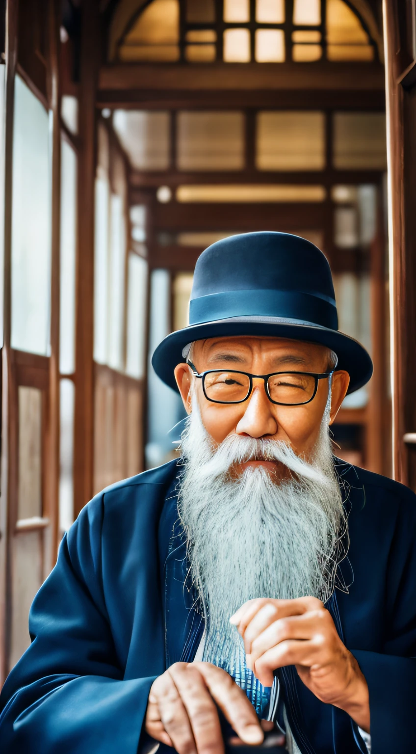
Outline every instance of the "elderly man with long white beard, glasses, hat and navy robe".
<path fill-rule="evenodd" d="M 180 459 L 63 539 L 2 752 L 411 752 L 415 498 L 332 455 L 372 363 L 338 332 L 325 257 L 280 233 L 213 244 L 190 321 L 153 357 L 189 415 Z"/>

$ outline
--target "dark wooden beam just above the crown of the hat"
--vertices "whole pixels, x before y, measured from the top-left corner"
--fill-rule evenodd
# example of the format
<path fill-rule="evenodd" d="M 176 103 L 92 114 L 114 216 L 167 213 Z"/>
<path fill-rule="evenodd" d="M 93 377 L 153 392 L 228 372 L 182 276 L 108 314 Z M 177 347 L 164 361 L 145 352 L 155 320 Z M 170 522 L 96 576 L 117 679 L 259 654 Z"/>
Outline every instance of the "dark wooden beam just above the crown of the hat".
<path fill-rule="evenodd" d="M 134 196 L 134 194 L 133 194 Z M 158 231 L 284 231 L 323 228 L 323 203 L 169 204 L 154 206 Z"/>

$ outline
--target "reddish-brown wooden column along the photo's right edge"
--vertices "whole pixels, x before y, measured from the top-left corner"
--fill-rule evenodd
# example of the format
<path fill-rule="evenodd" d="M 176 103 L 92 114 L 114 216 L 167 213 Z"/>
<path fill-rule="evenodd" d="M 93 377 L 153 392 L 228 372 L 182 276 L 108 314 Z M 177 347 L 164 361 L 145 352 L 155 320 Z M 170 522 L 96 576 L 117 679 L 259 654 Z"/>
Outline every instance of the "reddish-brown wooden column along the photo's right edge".
<path fill-rule="evenodd" d="M 411 0 L 384 0 L 393 475 L 416 489 L 416 29 Z"/>

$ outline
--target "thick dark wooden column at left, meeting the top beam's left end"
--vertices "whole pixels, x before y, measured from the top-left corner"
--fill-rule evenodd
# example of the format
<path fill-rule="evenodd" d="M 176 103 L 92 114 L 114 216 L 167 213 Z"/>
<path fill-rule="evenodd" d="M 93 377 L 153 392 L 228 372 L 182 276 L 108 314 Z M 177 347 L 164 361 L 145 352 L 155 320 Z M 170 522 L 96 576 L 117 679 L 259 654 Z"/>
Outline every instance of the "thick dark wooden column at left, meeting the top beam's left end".
<path fill-rule="evenodd" d="M 75 346 L 75 516 L 93 492 L 93 262 L 99 4 L 96 0 L 84 0 L 81 12 Z"/>

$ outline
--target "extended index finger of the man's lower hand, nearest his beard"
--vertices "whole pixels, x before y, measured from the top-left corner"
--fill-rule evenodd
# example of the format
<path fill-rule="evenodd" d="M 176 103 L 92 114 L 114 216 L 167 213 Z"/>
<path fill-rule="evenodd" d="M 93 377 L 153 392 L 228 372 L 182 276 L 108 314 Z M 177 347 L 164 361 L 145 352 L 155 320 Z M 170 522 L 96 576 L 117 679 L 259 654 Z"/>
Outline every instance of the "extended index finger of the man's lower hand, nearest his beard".
<path fill-rule="evenodd" d="M 205 679 L 210 694 L 237 736 L 244 743 L 262 743 L 264 734 L 254 707 L 231 676 L 210 663 L 197 662 L 194 665 Z"/>

